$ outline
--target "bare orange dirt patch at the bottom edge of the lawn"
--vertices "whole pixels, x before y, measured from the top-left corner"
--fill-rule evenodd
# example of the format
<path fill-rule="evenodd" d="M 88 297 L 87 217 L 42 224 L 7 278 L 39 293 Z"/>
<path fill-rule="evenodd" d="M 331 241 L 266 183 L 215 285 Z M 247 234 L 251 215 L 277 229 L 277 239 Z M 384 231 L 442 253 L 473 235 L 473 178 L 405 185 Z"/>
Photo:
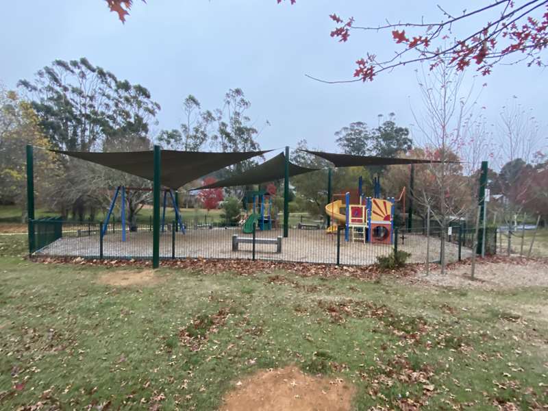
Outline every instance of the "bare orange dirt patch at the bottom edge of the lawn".
<path fill-rule="evenodd" d="M 260 371 L 236 382 L 221 411 L 348 411 L 356 388 L 343 379 L 312 377 L 296 366 Z"/>

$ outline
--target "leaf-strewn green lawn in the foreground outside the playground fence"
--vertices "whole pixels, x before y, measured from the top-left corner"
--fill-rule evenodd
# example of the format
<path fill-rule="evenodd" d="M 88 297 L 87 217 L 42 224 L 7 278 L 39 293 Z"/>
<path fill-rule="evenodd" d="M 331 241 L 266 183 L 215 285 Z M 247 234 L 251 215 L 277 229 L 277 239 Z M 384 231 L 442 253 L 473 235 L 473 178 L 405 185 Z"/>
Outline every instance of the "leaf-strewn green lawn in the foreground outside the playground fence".
<path fill-rule="evenodd" d="M 547 288 L 152 274 L 22 253 L 24 236 L 0 236 L 1 409 L 215 410 L 238 380 L 288 364 L 354 384 L 356 410 L 548 404 Z M 134 275 L 149 280 L 105 284 Z"/>

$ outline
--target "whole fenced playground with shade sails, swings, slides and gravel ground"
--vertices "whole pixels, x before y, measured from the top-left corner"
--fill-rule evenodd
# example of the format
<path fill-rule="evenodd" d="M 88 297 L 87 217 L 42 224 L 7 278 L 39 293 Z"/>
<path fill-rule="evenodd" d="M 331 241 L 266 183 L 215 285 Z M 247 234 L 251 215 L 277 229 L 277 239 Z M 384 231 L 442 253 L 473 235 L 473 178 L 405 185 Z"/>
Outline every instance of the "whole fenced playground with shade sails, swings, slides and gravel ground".
<path fill-rule="evenodd" d="M 32 162 L 32 147 L 27 148 Z M 95 162 L 153 180 L 153 188 L 117 186 L 105 218 L 101 222 L 71 223 L 60 218 L 34 219 L 32 175 L 29 175 L 29 253 L 36 256 L 82 257 L 91 259 L 151 259 L 153 266 L 160 260 L 184 258 L 273 260 L 337 265 L 375 264 L 379 258 L 398 256 L 409 263 L 440 262 L 442 238 L 445 237 L 445 260 L 456 262 L 469 258 L 475 233 L 462 225 L 451 227 L 446 234 L 429 225 L 412 227 L 412 199 L 406 202 L 406 186 L 400 192 L 382 190 L 379 175 L 373 177 L 373 187 L 366 190 L 362 176 L 342 190 L 333 189 L 332 168 L 327 169 L 327 181 L 318 182 L 327 190 L 327 201 L 321 219 L 301 219 L 297 224 L 289 219 L 290 177 L 311 173 L 289 160 L 289 148 L 270 160 L 232 175 L 221 181 L 193 188 L 194 192 L 222 190 L 230 187 L 253 187 L 245 190 L 233 223 L 225 221 L 198 223 L 188 221 L 179 209 L 178 188 L 197 180 L 219 166 L 234 164 L 260 152 L 197 153 L 162 151 L 135 153 L 81 153 L 59 151 L 62 155 Z M 337 153 L 308 151 L 332 162 L 337 168 L 365 167 L 368 164 L 410 164 L 410 190 L 413 189 L 414 166 L 431 164 L 431 160 L 378 158 Z M 131 164 L 127 156 L 132 158 Z M 153 159 L 151 158 L 153 156 Z M 163 159 L 163 160 L 160 160 Z M 151 160 L 155 166 L 150 167 Z M 162 161 L 165 168 L 162 169 Z M 184 165 L 182 165 L 184 164 Z M 193 165 L 194 164 L 194 165 Z M 184 175 L 184 170 L 188 175 Z M 32 173 L 32 168 L 30 169 Z M 283 193 L 276 193 L 273 184 L 282 181 Z M 265 188 L 266 187 L 266 188 Z M 129 221 L 127 198 L 136 191 L 153 194 L 149 225 Z M 283 200 L 283 211 L 276 210 L 275 199 Z M 168 211 L 172 210 L 171 213 Z M 400 218 L 396 224 L 396 216 Z M 234 218 L 234 217 L 232 217 Z M 171 219 L 171 221 L 170 221 Z M 116 223 L 117 220 L 117 223 Z M 490 233 L 486 232 L 489 236 Z M 487 237 L 486 237 L 487 238 Z M 493 239 L 490 243 L 494 243 Z M 488 252 L 490 248 L 486 249 Z"/>

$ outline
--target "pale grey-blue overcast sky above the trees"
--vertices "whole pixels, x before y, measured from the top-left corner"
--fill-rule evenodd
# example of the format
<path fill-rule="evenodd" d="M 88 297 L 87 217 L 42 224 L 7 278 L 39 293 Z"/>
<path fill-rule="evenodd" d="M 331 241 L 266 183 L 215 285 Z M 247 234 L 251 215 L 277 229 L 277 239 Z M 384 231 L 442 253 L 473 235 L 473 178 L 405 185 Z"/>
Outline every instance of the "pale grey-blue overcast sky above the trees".
<path fill-rule="evenodd" d="M 354 62 L 367 51 L 395 50 L 389 32 L 353 33 L 351 41 L 339 44 L 329 36 L 328 14 L 377 25 L 385 18 L 439 18 L 437 3 L 458 14 L 479 2 L 298 0 L 290 6 L 275 0 L 135 0 L 123 25 L 103 0 L 3 1 L 0 82 L 14 88 L 18 79 L 32 78 L 55 59 L 85 56 L 149 88 L 162 105 L 156 132 L 178 127 L 186 95 L 214 109 L 229 88 L 239 87 L 251 101 L 249 114 L 262 129 L 263 148 L 295 147 L 306 138 L 312 147 L 334 150 L 334 132 L 353 121 L 376 125 L 378 114 L 395 112 L 399 124 L 412 127 L 410 105 L 419 107 L 420 99 L 411 66 L 367 84 L 306 78 L 309 73 L 349 79 Z M 497 66 L 493 75 L 477 80 L 483 82 L 488 86 L 480 103 L 491 121 L 515 95 L 545 126 L 545 71 Z M 267 120 L 270 126 L 263 127 Z M 414 138 L 420 136 L 415 132 Z"/>

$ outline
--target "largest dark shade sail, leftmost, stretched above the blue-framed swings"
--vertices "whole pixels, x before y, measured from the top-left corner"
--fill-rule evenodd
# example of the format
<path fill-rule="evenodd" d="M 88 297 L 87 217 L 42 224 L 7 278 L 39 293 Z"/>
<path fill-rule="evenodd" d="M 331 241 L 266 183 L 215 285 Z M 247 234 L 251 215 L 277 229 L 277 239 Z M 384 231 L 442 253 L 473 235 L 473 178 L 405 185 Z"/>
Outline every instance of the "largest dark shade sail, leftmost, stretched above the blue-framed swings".
<path fill-rule="evenodd" d="M 153 151 L 127 151 L 114 153 L 88 153 L 82 151 L 52 150 L 55 153 L 101 164 L 149 180 L 154 179 Z M 211 153 L 206 151 L 162 150 L 160 182 L 162 186 L 177 190 L 180 186 L 243 160 L 268 153 L 244 151 L 242 153 Z"/>

